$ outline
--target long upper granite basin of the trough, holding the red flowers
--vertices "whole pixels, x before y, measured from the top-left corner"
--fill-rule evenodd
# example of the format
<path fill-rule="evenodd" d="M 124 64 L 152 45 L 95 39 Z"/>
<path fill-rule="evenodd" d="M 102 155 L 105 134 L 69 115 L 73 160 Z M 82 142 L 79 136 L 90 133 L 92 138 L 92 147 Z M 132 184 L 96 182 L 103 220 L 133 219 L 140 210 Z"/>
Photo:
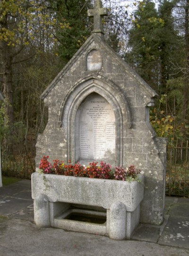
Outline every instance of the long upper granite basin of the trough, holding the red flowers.
<path fill-rule="evenodd" d="M 94 205 L 105 209 L 110 209 L 114 202 L 121 202 L 127 211 L 133 212 L 143 199 L 144 177 L 138 177 L 142 182 L 33 173 L 32 198 L 38 200 L 38 196 L 44 194 L 50 202 Z"/>

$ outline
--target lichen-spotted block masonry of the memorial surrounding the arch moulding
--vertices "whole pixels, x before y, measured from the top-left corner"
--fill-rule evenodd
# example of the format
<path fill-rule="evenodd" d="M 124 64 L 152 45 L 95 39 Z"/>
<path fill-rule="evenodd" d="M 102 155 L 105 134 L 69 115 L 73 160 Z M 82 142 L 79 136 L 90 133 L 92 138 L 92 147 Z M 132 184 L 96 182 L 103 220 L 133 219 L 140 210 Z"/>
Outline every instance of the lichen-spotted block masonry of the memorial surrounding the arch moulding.
<path fill-rule="evenodd" d="M 86 54 L 91 49 L 97 49 L 101 53 L 100 71 L 86 71 Z M 103 85 L 107 87 L 107 81 L 112 81 L 112 84 L 120 89 L 120 95 L 123 94 L 127 98 L 132 114 L 132 125 L 129 128 L 126 123 L 121 124 L 122 164 L 124 167 L 134 164 L 145 173 L 145 198 L 141 204 L 141 222 L 161 224 L 164 208 L 166 140 L 155 137 L 148 118 L 148 106 L 153 102 L 152 98 L 156 97 L 156 93 L 97 36 L 92 36 L 86 42 L 58 75 L 52 89 L 46 92 L 44 102 L 49 109 L 49 121 L 43 134 L 38 136 L 36 166 L 43 155 L 49 155 L 51 161 L 57 158 L 68 161 L 68 130 L 61 124 L 61 108 L 66 97 L 77 87 L 78 81 L 87 76 L 105 81 Z M 120 95 L 114 97 L 118 99 Z M 124 107 L 120 106 L 120 109 L 124 115 Z M 75 140 L 74 134 L 71 136 L 72 140 Z"/>

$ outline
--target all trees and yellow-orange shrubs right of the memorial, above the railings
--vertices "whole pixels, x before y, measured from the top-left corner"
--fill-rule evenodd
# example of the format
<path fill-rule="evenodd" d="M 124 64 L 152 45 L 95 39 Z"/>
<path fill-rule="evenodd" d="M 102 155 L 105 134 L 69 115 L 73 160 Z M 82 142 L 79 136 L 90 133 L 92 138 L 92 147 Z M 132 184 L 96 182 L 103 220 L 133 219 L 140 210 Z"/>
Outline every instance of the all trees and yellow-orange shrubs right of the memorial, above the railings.
<path fill-rule="evenodd" d="M 132 16 L 126 54 L 133 68 L 160 95 L 151 111 L 151 124 L 160 137 L 188 139 L 189 120 L 183 118 L 186 78 L 183 40 L 174 23 L 173 8 L 177 1 L 160 1 L 158 10 L 152 0 L 137 3 Z"/>

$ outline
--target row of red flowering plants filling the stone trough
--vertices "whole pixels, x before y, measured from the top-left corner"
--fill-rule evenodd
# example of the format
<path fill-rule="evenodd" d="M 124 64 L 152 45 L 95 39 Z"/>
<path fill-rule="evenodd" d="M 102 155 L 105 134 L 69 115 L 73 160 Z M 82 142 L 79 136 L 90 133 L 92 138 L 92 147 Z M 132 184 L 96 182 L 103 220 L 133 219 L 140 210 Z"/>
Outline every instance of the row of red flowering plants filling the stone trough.
<path fill-rule="evenodd" d="M 123 181 L 140 181 L 137 179 L 137 174 L 141 173 L 140 170 L 136 170 L 134 165 L 129 168 L 123 168 L 121 166 L 111 169 L 110 164 L 106 164 L 103 161 L 92 162 L 86 167 L 80 163 L 65 164 L 59 159 L 53 160 L 53 165 L 48 161 L 49 156 L 43 156 L 39 164 L 39 172 L 44 174 L 59 174 L 65 176 L 75 177 L 89 177 L 89 178 L 100 178 L 100 179 L 115 179 Z"/>

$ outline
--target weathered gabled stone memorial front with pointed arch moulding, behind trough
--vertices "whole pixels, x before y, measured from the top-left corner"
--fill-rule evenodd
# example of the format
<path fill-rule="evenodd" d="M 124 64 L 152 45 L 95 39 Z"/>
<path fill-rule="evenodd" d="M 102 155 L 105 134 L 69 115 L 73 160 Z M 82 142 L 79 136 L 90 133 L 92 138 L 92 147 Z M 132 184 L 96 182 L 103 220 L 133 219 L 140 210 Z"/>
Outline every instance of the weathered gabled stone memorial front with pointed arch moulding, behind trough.
<path fill-rule="evenodd" d="M 92 95 L 104 98 L 115 118 L 115 139 L 111 142 L 114 152 L 107 155 L 105 161 L 112 166 L 134 164 L 144 171 L 145 198 L 141 203 L 140 221 L 160 224 L 164 208 L 166 140 L 156 138 L 149 123 L 149 106 L 153 106 L 157 94 L 102 40 L 100 33 L 91 35 L 41 96 L 49 109 L 49 122 L 43 135 L 38 136 L 36 165 L 43 155 L 49 155 L 51 161 L 59 158 L 76 162 L 83 158 L 77 115 Z M 110 119 L 112 122 L 112 117 Z M 103 136 L 99 132 L 99 138 Z M 103 144 L 105 149 L 107 144 Z M 92 141 L 82 146 L 94 147 Z M 103 160 L 105 150 L 102 151 Z M 87 154 L 84 162 L 100 161 L 99 154 L 98 157 L 88 154 L 89 159 Z"/>

